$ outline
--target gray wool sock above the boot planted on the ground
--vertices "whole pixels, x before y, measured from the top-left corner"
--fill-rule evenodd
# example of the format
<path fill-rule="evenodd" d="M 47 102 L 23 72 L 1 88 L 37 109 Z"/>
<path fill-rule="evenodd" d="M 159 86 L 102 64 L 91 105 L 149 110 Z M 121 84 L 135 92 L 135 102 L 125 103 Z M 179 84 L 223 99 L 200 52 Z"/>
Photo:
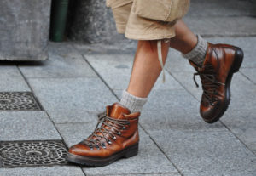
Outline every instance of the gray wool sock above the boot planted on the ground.
<path fill-rule="evenodd" d="M 143 105 L 147 102 L 147 98 L 136 97 L 129 94 L 126 90 L 123 91 L 120 104 L 128 108 L 131 113 L 143 111 Z"/>

